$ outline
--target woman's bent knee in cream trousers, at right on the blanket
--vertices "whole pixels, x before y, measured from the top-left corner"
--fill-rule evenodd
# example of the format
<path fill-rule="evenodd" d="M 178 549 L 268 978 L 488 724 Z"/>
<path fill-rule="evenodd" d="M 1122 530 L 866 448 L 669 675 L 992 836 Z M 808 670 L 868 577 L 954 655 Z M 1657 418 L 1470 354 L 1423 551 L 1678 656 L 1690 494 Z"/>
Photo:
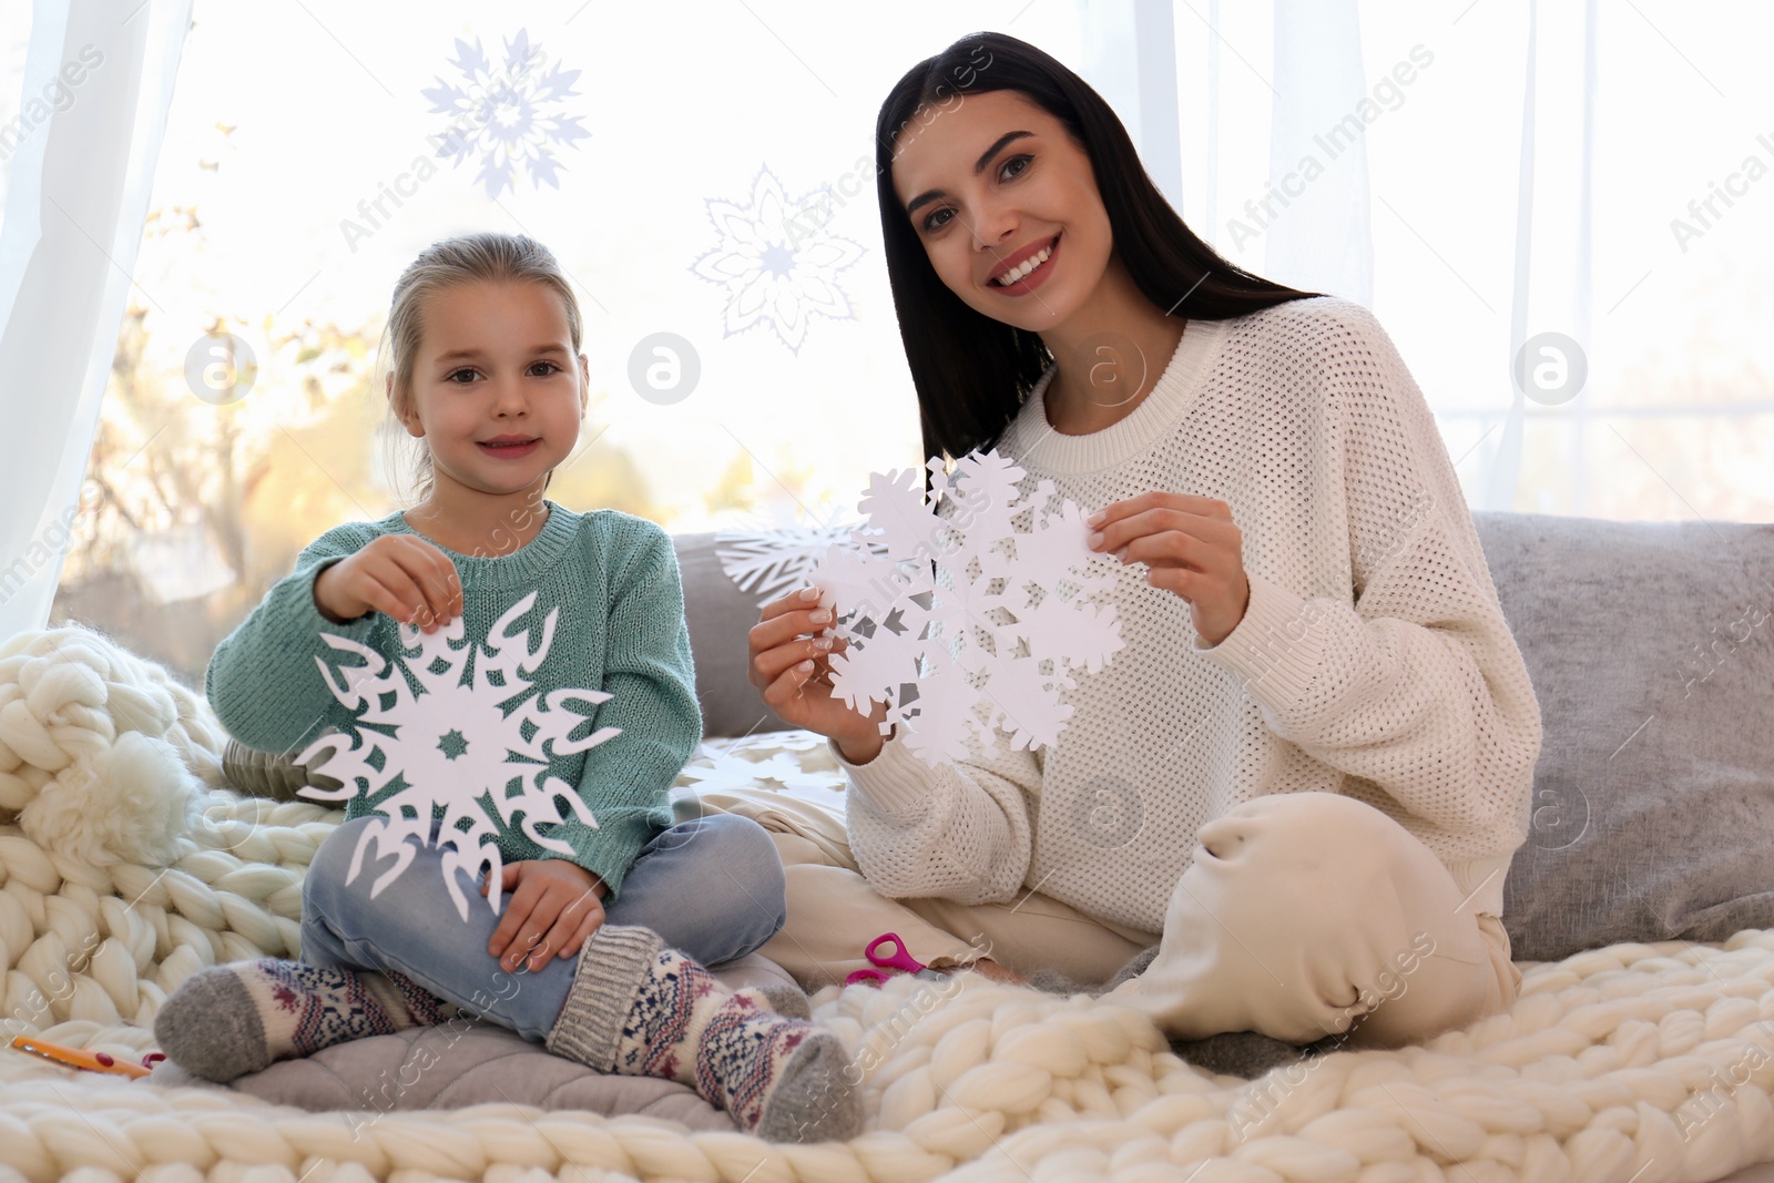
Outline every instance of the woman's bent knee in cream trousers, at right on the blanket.
<path fill-rule="evenodd" d="M 1355 1027 L 1352 1045 L 1398 1046 L 1513 1002 L 1506 949 L 1440 860 L 1378 809 L 1283 793 L 1199 837 L 1157 960 L 1107 995 L 1171 1038 L 1313 1043 Z"/>

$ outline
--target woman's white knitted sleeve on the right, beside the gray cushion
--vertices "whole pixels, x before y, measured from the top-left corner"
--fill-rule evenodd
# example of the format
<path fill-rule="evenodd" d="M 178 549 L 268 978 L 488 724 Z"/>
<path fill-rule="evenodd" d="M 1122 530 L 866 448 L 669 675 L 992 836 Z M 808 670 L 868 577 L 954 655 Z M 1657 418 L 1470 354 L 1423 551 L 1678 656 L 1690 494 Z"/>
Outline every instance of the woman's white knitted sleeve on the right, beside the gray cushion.
<path fill-rule="evenodd" d="M 1460 834 L 1527 835 L 1540 708 L 1448 450 L 1366 309 L 1339 302 L 1309 346 L 1343 465 L 1354 603 L 1249 573 L 1244 619 L 1197 649 L 1267 725 Z"/>

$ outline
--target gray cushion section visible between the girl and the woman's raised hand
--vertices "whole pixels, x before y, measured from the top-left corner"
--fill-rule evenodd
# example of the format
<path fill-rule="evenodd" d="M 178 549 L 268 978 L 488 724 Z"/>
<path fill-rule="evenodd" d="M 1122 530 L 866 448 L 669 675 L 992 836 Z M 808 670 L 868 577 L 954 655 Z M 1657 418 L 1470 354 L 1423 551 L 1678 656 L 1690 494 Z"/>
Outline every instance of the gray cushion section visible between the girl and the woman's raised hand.
<path fill-rule="evenodd" d="M 750 665 L 747 635 L 757 623 L 757 594 L 740 591 L 720 569 L 715 537 L 715 534 L 672 537 L 678 548 L 678 569 L 683 573 L 683 614 L 690 621 L 703 734 L 747 736 L 759 731 L 789 731 L 789 725 L 765 706 L 747 678 Z"/>

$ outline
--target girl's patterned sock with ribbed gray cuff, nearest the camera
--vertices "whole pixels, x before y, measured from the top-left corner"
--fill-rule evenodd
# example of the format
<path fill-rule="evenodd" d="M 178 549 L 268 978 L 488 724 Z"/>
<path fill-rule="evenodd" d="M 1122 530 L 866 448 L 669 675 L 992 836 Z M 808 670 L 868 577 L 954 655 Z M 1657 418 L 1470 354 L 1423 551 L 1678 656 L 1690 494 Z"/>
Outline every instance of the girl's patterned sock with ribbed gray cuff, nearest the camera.
<path fill-rule="evenodd" d="M 585 942 L 548 1050 L 598 1071 L 687 1084 L 770 1142 L 862 1130 L 850 1055 L 830 1032 L 729 991 L 651 929 L 605 924 Z"/>

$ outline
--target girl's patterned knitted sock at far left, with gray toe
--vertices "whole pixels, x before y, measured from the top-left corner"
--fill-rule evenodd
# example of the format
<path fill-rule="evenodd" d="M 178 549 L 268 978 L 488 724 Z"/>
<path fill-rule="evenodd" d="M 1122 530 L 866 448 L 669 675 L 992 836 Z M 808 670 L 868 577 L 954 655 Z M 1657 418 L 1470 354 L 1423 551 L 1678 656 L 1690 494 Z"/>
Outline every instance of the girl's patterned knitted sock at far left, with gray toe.
<path fill-rule="evenodd" d="M 454 1013 L 404 974 L 264 958 L 186 977 L 154 1016 L 154 1038 L 174 1064 L 227 1084 L 280 1059 Z"/>

